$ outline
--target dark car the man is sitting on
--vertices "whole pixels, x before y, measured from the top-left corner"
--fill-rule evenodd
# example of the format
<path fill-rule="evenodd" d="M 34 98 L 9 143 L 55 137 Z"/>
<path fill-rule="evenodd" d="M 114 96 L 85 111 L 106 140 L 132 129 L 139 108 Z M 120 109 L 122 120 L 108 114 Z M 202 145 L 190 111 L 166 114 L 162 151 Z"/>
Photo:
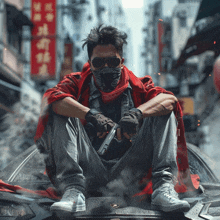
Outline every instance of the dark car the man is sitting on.
<path fill-rule="evenodd" d="M 56 216 L 50 206 L 57 198 L 16 191 L 0 191 L 0 219 L 220 219 L 220 182 L 213 173 L 213 162 L 199 148 L 187 143 L 190 170 L 200 176 L 200 187 L 193 195 L 180 196 L 191 204 L 186 213 L 164 213 L 151 209 L 149 200 L 126 204 L 120 197 L 92 196 L 87 199 L 87 210 L 70 216 Z M 35 145 L 19 155 L 0 173 L 0 179 L 11 186 L 42 192 L 52 187 L 45 175 L 42 155 Z M 1 186 L 1 185 L 0 185 Z M 1 187 L 0 187 L 1 189 Z M 184 198 L 185 197 L 185 198 Z"/>

